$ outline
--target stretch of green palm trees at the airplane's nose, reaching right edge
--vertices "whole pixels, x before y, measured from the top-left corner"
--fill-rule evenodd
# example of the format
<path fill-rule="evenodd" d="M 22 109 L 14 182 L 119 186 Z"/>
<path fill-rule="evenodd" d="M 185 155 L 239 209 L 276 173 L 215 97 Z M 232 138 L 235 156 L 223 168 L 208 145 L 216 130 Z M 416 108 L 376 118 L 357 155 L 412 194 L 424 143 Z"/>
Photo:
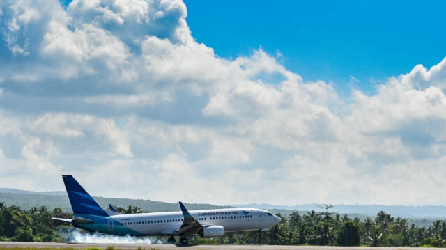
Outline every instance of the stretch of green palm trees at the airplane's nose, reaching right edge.
<path fill-rule="evenodd" d="M 314 210 L 305 214 L 297 211 L 288 218 L 276 214 L 282 221 L 267 231 L 263 239 L 252 232 L 226 235 L 219 243 L 229 244 L 283 244 L 320 246 L 370 247 L 446 247 L 446 222 L 433 221 L 431 226 L 417 227 L 406 219 L 392 217 L 384 211 L 376 217 L 350 218 L 347 214 L 330 212 L 333 205 L 324 205 L 323 212 Z"/>

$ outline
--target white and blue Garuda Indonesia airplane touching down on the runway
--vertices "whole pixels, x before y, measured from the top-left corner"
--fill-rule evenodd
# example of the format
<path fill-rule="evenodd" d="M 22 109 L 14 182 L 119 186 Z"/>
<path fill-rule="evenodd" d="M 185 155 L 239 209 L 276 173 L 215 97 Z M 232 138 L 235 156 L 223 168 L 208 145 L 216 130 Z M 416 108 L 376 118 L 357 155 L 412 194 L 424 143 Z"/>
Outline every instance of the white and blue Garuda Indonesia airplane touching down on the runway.
<path fill-rule="evenodd" d="M 226 232 L 268 231 L 282 220 L 267 210 L 257 208 L 224 208 L 188 211 L 180 201 L 181 212 L 121 214 L 104 210 L 79 185 L 72 175 L 62 175 L 74 219 L 52 218 L 70 222 L 72 226 L 108 235 L 169 236 L 167 242 L 187 244 L 191 237 L 222 237 Z M 110 209 L 112 205 L 109 204 Z"/>

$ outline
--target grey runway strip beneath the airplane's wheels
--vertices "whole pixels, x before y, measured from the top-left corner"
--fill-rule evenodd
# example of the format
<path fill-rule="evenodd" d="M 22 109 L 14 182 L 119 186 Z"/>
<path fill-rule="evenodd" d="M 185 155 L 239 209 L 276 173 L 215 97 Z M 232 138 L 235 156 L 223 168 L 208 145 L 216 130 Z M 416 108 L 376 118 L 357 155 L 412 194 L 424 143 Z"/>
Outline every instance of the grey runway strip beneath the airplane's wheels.
<path fill-rule="evenodd" d="M 318 246 L 270 246 L 270 245 L 174 245 L 174 244 L 107 244 L 107 243 L 57 243 L 57 242 L 0 242 L 0 248 L 11 247 L 35 247 L 35 248 L 52 248 L 52 249 L 87 249 L 89 247 L 98 247 L 106 249 L 107 247 L 114 247 L 114 249 L 129 249 L 129 250 L 155 250 L 155 249 L 190 249 L 190 250 L 413 250 L 414 247 L 318 247 Z M 425 248 L 419 248 L 425 249 Z M 431 248 L 435 249 L 435 248 Z M 440 249 L 440 248 L 438 248 Z"/>

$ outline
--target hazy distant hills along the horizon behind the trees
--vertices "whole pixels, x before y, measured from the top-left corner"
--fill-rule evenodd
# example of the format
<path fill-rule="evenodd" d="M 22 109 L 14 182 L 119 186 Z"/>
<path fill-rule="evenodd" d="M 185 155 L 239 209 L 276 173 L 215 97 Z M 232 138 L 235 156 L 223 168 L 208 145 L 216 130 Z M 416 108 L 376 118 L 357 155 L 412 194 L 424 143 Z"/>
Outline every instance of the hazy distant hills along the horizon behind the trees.
<path fill-rule="evenodd" d="M 128 205 L 137 205 L 142 211 L 148 212 L 164 212 L 179 211 L 178 203 L 166 203 L 162 201 L 150 201 L 130 198 L 104 198 L 95 197 L 102 208 L 108 208 L 108 204 L 118 205 L 127 208 Z M 24 210 L 44 205 L 49 210 L 61 208 L 65 212 L 72 212 L 70 201 L 65 191 L 54 192 L 33 192 L 20 189 L 0 188 L 0 201 L 6 205 L 18 205 Z M 213 209 L 213 208 L 263 208 L 270 210 L 272 213 L 282 214 L 287 218 L 293 211 L 299 214 L 306 214 L 314 210 L 316 212 L 323 211 L 322 204 L 305 204 L 305 205 L 271 205 L 271 204 L 245 204 L 217 206 L 210 204 L 190 204 L 186 203 L 190 210 Z M 402 217 L 408 219 L 409 224 L 415 226 L 431 226 L 436 219 L 446 218 L 445 206 L 403 206 L 403 205 L 334 205 L 332 212 L 339 214 L 347 214 L 350 218 L 358 217 L 365 219 L 370 217 L 374 219 L 380 211 L 387 212 L 392 217 Z"/>

